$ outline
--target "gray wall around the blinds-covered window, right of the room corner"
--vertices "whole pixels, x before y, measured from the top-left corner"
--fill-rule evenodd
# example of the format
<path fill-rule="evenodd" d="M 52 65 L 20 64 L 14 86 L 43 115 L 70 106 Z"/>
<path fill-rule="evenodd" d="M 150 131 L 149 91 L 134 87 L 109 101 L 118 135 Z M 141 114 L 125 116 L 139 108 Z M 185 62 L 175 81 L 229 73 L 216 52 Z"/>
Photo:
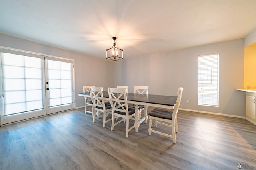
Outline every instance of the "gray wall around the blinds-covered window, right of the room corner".
<path fill-rule="evenodd" d="M 220 54 L 219 107 L 198 106 L 198 55 L 212 53 Z M 129 85 L 129 92 L 143 85 L 150 94 L 175 95 L 182 86 L 182 109 L 245 116 L 245 92 L 235 90 L 243 87 L 244 39 L 124 59 L 114 70 L 114 85 Z"/>

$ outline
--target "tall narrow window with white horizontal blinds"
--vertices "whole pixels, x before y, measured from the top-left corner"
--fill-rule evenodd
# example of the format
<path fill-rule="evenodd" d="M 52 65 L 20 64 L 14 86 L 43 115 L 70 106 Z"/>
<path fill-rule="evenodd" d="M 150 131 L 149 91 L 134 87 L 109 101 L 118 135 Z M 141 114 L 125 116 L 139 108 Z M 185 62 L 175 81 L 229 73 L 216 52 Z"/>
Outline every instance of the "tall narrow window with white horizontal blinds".
<path fill-rule="evenodd" d="M 219 106 L 219 54 L 198 57 L 198 105 Z"/>

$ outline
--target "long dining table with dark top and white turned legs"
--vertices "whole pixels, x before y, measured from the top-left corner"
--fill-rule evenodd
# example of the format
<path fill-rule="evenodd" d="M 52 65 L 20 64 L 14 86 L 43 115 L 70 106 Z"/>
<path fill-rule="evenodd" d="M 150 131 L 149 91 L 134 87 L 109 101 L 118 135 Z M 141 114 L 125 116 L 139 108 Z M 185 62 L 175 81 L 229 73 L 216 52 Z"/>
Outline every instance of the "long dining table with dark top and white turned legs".
<path fill-rule="evenodd" d="M 89 92 L 78 93 L 78 96 L 90 97 Z M 140 124 L 148 120 L 148 113 L 144 114 L 144 117 L 139 116 L 139 105 L 160 107 L 164 109 L 174 109 L 176 104 L 177 96 L 165 96 L 156 94 L 137 94 L 137 93 L 126 93 L 128 104 L 135 105 L 135 131 L 138 132 Z M 104 100 L 109 100 L 108 91 L 103 91 Z M 120 98 L 121 102 L 124 98 Z M 124 102 L 124 101 L 123 101 Z"/>

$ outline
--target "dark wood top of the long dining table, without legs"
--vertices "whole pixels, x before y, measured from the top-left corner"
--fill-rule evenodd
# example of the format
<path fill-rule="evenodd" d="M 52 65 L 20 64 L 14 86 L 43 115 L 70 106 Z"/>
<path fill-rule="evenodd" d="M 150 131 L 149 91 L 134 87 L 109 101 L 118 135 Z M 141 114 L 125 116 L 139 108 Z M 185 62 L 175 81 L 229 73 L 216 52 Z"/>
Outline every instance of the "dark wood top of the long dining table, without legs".
<path fill-rule="evenodd" d="M 78 93 L 80 96 L 90 96 L 90 93 Z M 104 98 L 109 98 L 108 92 L 103 91 Z M 144 102 L 151 104 L 161 104 L 166 106 L 174 106 L 177 100 L 177 96 L 163 96 L 155 94 L 136 94 L 127 93 L 127 100 L 135 102 Z"/>

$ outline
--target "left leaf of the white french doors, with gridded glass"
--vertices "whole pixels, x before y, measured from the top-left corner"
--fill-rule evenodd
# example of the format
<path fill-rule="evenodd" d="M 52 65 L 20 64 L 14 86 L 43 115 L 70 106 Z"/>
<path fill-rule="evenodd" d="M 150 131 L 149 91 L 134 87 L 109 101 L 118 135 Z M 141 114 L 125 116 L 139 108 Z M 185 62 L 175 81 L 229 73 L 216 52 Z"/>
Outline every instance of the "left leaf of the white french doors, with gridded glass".
<path fill-rule="evenodd" d="M 2 124 L 45 115 L 43 92 L 43 60 L 1 53 Z M 22 113 L 22 114 L 20 114 Z"/>

